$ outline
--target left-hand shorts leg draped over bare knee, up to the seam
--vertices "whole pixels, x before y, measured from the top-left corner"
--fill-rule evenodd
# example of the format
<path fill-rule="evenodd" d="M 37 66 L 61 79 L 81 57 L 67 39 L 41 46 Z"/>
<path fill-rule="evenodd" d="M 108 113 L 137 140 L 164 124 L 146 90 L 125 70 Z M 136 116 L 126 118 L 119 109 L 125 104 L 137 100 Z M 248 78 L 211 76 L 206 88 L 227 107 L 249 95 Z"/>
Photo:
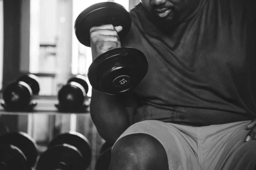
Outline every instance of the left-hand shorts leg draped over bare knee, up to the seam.
<path fill-rule="evenodd" d="M 197 142 L 195 139 L 188 139 L 189 136 L 179 127 L 183 130 L 187 128 L 188 131 L 194 133 L 193 127 L 146 120 L 129 127 L 116 142 L 131 134 L 148 134 L 163 145 L 168 157 L 169 170 L 199 170 Z"/>

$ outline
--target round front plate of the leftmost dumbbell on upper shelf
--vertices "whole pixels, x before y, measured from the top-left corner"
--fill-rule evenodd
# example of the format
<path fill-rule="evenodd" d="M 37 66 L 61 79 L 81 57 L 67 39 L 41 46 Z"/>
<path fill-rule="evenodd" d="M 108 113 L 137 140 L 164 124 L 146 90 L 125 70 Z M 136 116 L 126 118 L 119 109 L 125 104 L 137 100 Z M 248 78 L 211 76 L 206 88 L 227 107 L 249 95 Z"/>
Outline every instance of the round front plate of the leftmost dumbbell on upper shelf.
<path fill-rule="evenodd" d="M 14 108 L 23 108 L 29 105 L 32 89 L 25 82 L 13 82 L 3 91 L 3 100 L 6 105 Z"/>

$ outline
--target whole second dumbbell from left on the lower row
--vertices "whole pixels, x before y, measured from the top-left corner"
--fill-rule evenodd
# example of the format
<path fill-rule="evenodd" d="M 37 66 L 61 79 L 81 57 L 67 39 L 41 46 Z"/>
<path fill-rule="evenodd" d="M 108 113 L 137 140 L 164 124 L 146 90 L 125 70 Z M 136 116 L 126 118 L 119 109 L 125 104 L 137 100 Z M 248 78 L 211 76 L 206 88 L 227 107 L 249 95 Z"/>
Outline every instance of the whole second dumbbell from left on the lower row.
<path fill-rule="evenodd" d="M 85 136 L 78 132 L 56 136 L 40 156 L 36 170 L 86 170 L 92 150 Z"/>

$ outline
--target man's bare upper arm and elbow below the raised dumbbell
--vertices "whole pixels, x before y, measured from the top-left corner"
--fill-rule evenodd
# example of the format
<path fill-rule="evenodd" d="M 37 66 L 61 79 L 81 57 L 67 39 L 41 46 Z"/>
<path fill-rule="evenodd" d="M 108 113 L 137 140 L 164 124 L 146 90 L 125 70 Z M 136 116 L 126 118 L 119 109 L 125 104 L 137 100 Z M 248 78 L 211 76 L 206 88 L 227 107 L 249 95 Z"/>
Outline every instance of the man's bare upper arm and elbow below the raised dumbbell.
<path fill-rule="evenodd" d="M 131 125 L 134 106 L 127 107 L 122 96 L 112 96 L 93 89 L 90 114 L 100 136 L 107 142 L 115 142 Z"/>

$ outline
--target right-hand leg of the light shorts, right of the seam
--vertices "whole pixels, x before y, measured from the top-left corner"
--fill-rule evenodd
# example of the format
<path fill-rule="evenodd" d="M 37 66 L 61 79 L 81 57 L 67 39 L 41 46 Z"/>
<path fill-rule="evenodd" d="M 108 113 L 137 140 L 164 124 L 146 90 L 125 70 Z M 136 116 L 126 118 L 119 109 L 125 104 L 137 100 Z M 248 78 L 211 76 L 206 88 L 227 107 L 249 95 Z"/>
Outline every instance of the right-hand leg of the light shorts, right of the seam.
<path fill-rule="evenodd" d="M 249 123 L 250 121 L 234 122 L 209 126 L 203 130 L 204 169 L 254 170 L 256 140 L 244 142 L 249 132 L 246 130 Z"/>

